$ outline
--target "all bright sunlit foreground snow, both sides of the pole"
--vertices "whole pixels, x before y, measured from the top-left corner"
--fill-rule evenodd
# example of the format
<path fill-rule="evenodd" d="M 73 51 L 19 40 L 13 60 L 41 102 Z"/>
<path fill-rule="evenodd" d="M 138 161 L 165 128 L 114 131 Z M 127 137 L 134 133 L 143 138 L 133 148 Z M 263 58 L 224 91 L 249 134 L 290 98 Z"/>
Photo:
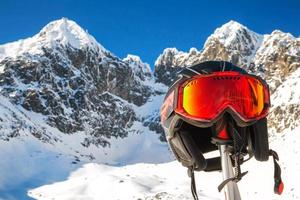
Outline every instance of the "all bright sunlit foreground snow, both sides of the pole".
<path fill-rule="evenodd" d="M 249 173 L 238 183 L 242 199 L 298 200 L 300 189 L 300 128 L 273 138 L 271 148 L 280 155 L 285 191 L 281 196 L 273 193 L 273 161 L 261 163 L 254 159 L 242 165 Z M 284 147 L 284 148 L 282 148 Z M 221 173 L 196 173 L 199 199 L 221 200 L 217 186 Z M 192 200 L 190 179 L 186 168 L 178 162 L 164 164 L 135 164 L 112 167 L 90 163 L 73 172 L 67 180 L 39 187 L 28 192 L 35 199 L 172 199 Z"/>

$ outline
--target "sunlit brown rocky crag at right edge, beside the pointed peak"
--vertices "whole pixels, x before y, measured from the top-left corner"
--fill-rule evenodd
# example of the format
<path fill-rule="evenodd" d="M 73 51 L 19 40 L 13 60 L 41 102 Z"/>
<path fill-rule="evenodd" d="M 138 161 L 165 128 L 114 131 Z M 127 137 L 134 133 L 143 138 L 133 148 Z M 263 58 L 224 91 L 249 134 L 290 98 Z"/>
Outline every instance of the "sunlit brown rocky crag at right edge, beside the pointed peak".
<path fill-rule="evenodd" d="M 265 35 L 255 57 L 255 66 L 263 66 L 274 91 L 300 67 L 300 39 L 289 33 L 273 31 Z"/>

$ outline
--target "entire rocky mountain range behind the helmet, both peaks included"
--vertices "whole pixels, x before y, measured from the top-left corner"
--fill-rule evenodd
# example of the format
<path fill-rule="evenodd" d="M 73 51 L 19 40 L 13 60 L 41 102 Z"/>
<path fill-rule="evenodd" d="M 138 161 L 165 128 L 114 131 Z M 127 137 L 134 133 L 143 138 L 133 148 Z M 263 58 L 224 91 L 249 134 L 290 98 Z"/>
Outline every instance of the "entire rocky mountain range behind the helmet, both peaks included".
<path fill-rule="evenodd" d="M 288 33 L 260 35 L 230 21 L 201 51 L 165 49 L 152 75 L 138 56 L 114 56 L 63 18 L 32 38 L 0 46 L 0 139 L 30 134 L 55 144 L 80 133 L 76 144 L 102 148 L 129 133 L 152 131 L 163 141 L 159 107 L 167 86 L 183 67 L 206 60 L 230 61 L 266 78 L 274 131 L 300 125 L 300 39 Z"/>

